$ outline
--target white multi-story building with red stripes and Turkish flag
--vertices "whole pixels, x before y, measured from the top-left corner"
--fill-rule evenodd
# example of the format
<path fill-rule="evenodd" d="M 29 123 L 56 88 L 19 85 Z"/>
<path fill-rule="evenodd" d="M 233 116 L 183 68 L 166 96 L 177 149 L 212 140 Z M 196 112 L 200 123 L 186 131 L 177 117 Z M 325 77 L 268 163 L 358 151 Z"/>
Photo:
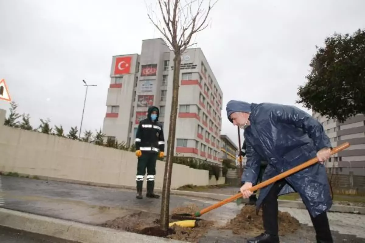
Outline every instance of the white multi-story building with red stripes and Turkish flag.
<path fill-rule="evenodd" d="M 113 56 L 105 136 L 132 145 L 139 121 L 154 105 L 167 142 L 173 58 L 162 39 L 143 40 L 141 54 Z M 222 90 L 200 48 L 187 49 L 181 59 L 175 154 L 219 162 Z"/>

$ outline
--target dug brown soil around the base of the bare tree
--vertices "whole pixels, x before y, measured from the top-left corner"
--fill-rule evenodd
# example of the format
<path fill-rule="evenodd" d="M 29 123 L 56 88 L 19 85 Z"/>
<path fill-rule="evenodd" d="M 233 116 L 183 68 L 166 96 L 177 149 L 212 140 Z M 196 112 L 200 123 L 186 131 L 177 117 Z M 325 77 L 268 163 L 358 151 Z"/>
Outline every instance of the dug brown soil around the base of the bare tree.
<path fill-rule="evenodd" d="M 185 207 L 178 207 L 172 210 L 173 213 L 195 213 L 199 208 L 194 205 L 187 205 Z M 171 220 L 170 223 L 176 222 L 177 220 Z M 208 229 L 213 226 L 213 222 L 200 220 L 197 221 L 195 228 L 185 228 L 180 226 L 173 226 L 169 229 L 168 235 L 164 235 L 159 227 L 160 215 L 149 212 L 133 213 L 123 217 L 117 217 L 114 220 L 109 220 L 101 227 L 112 228 L 116 230 L 124 230 L 143 235 L 151 235 L 164 237 L 174 240 L 183 240 L 187 242 L 197 242 L 203 237 Z"/>

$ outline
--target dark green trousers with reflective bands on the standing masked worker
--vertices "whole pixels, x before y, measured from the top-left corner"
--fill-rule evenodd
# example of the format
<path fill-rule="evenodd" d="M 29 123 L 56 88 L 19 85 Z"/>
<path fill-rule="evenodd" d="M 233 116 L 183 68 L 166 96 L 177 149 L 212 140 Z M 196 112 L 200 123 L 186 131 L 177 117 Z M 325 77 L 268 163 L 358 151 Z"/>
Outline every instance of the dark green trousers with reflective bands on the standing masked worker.
<path fill-rule="evenodd" d="M 137 164 L 137 192 L 142 193 L 143 178 L 146 174 L 147 168 L 147 193 L 153 193 L 155 186 L 155 175 L 156 175 L 156 161 L 157 153 L 142 151 L 142 155 L 138 157 Z"/>

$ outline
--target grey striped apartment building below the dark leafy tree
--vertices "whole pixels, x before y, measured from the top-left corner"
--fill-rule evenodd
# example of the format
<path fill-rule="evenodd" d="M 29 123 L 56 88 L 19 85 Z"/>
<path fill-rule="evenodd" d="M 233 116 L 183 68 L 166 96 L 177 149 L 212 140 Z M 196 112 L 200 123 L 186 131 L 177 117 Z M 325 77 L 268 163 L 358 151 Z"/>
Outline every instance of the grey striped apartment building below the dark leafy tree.
<path fill-rule="evenodd" d="M 313 113 L 331 140 L 333 147 L 349 142 L 350 147 L 334 154 L 327 162 L 329 173 L 365 175 L 365 115 L 358 114 L 341 123 Z"/>

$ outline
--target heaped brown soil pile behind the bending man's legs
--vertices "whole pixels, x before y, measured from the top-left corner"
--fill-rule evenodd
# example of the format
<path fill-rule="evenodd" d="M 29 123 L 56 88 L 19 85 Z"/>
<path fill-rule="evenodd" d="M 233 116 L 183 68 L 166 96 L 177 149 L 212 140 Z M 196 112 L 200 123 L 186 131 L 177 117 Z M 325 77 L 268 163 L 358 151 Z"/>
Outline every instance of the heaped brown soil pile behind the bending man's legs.
<path fill-rule="evenodd" d="M 295 232 L 300 228 L 299 221 L 287 212 L 278 214 L 279 235 L 283 236 Z M 264 232 L 262 211 L 256 214 L 255 206 L 245 206 L 241 212 L 227 223 L 224 229 L 230 229 L 234 234 L 258 235 Z"/>

